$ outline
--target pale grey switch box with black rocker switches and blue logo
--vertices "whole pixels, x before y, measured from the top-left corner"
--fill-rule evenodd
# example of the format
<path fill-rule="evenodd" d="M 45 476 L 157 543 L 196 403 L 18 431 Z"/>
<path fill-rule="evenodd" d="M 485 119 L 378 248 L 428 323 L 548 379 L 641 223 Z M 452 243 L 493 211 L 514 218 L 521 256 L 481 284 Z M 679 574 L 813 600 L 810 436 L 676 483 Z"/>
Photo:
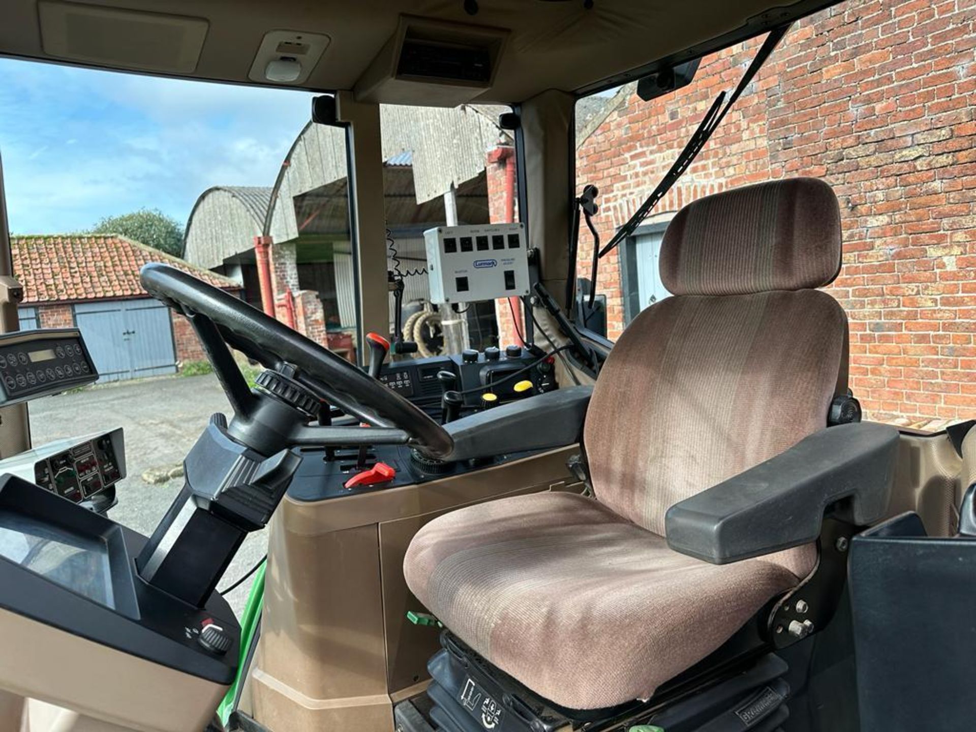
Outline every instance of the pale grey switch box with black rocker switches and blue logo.
<path fill-rule="evenodd" d="M 529 294 L 524 224 L 437 226 L 424 232 L 430 302 L 478 303 Z"/>

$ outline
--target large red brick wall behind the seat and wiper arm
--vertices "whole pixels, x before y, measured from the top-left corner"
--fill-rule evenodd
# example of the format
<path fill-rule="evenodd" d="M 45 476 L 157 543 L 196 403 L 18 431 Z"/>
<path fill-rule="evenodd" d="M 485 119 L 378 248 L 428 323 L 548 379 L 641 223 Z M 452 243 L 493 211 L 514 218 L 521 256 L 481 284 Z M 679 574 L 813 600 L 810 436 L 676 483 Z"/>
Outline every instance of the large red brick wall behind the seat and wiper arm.
<path fill-rule="evenodd" d="M 831 183 L 844 266 L 830 292 L 850 318 L 852 387 L 874 419 L 976 408 L 974 19 L 968 0 L 889 0 L 801 21 L 657 209 L 790 176 Z M 577 182 L 600 188 L 604 242 L 758 43 L 703 61 L 691 87 L 663 100 L 630 97 L 584 142 Z M 613 338 L 624 318 L 616 253 L 601 264 L 599 291 Z"/>

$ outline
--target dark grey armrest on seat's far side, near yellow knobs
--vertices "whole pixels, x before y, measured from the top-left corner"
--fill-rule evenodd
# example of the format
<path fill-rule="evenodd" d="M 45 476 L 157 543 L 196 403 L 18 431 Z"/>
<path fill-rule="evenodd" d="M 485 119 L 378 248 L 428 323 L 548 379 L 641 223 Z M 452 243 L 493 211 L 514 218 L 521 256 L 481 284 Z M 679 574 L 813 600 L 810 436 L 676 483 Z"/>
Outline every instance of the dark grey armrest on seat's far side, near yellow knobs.
<path fill-rule="evenodd" d="M 487 458 L 571 445 L 580 439 L 592 386 L 558 388 L 444 426 L 454 438 L 445 460 Z"/>

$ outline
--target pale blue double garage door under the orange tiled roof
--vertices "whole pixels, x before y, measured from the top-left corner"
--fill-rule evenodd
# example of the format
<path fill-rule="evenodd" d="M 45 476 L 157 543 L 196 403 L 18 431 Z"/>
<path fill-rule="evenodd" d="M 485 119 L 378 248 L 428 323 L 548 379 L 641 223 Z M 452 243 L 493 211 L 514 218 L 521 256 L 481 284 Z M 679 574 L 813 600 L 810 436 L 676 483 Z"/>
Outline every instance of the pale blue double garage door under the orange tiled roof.
<path fill-rule="evenodd" d="M 100 382 L 176 373 L 173 323 L 169 308 L 159 301 L 79 303 L 74 317 Z"/>

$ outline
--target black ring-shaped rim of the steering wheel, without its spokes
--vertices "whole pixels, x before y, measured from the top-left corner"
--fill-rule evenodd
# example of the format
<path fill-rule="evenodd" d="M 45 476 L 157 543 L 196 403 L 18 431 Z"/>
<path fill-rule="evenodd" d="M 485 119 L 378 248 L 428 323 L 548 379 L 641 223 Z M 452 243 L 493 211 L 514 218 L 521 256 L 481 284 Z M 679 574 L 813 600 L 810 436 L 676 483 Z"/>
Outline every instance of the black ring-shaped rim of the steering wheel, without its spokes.
<path fill-rule="evenodd" d="M 183 314 L 208 318 L 225 343 L 264 367 L 277 370 L 284 363 L 292 364 L 304 381 L 317 383 L 327 398 L 330 392 L 348 397 L 365 412 L 405 431 L 410 443 L 427 455 L 439 458 L 451 453 L 451 435 L 419 407 L 258 308 L 171 264 L 145 264 L 140 276 L 142 286 L 153 298 Z"/>

